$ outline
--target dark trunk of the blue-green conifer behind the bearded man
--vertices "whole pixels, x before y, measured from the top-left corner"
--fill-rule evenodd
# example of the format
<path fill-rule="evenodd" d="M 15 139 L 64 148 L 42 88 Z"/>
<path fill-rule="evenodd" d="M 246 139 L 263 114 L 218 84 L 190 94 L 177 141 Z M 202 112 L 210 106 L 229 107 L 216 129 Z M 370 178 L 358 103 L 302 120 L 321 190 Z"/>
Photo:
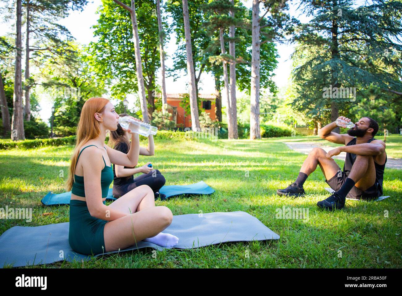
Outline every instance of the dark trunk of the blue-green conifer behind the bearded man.
<path fill-rule="evenodd" d="M 336 0 L 332 1 L 332 8 L 334 9 L 335 6 L 337 6 L 338 3 Z M 332 21 L 332 40 L 331 40 L 331 58 L 332 59 L 338 59 L 339 58 L 339 52 L 338 52 L 338 23 L 336 20 Z M 332 87 L 339 87 L 338 83 L 338 67 L 335 69 L 331 70 L 331 82 L 332 82 Z M 331 122 L 334 122 L 336 118 L 339 117 L 339 111 L 338 111 L 338 106 L 336 104 L 336 98 L 332 98 L 331 96 Z M 334 132 L 339 133 L 340 128 L 339 126 L 336 126 L 333 130 Z"/>

